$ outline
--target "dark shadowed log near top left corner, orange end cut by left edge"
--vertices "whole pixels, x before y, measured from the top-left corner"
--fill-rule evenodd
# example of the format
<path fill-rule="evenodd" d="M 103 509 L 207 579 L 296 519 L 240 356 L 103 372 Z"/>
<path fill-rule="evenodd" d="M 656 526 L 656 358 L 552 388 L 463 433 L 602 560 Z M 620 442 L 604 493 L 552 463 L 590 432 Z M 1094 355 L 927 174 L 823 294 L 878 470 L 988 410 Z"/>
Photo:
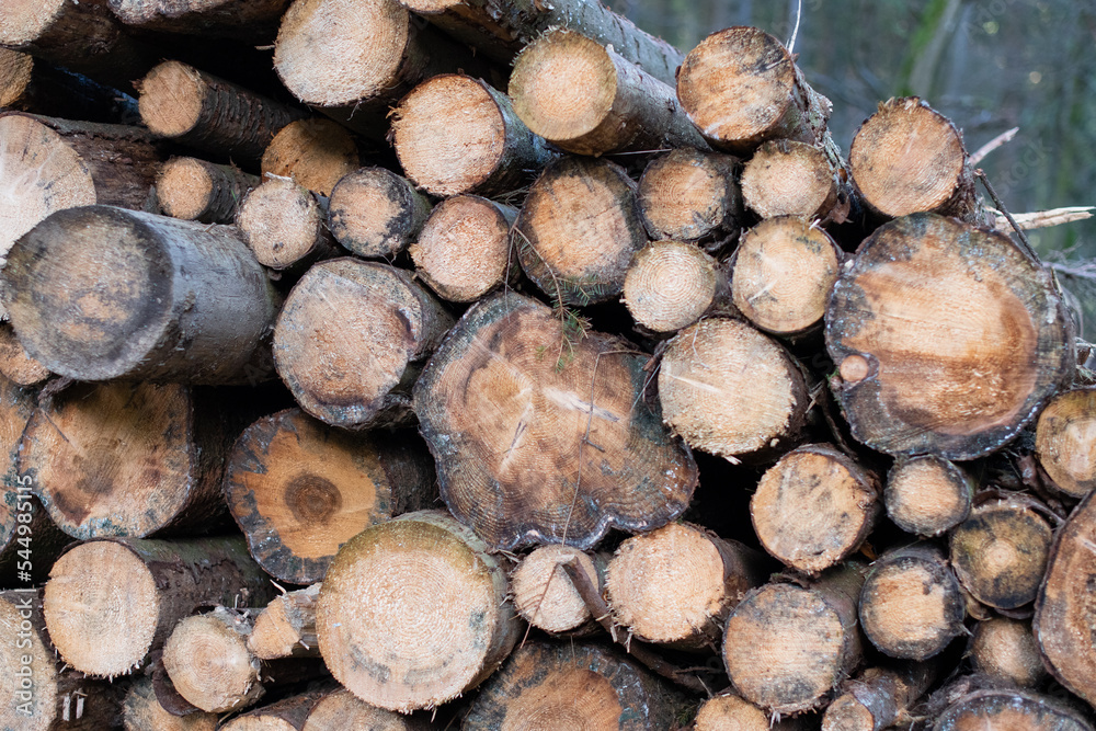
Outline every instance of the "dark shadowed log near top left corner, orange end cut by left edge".
<path fill-rule="evenodd" d="M 8 48 L 0 48 L 0 107 L 87 122 L 140 122 L 133 96 Z"/>

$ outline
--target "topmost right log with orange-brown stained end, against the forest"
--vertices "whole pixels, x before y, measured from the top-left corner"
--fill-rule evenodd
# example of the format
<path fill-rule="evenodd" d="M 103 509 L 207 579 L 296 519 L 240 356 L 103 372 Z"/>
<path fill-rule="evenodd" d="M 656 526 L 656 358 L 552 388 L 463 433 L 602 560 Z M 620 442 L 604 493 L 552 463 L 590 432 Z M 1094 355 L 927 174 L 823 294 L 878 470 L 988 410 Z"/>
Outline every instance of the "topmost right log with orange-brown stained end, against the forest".
<path fill-rule="evenodd" d="M 677 72 L 677 98 L 715 148 L 745 153 L 765 140 L 789 139 L 840 158 L 826 130 L 830 100 L 761 28 L 729 27 L 701 41 Z"/>

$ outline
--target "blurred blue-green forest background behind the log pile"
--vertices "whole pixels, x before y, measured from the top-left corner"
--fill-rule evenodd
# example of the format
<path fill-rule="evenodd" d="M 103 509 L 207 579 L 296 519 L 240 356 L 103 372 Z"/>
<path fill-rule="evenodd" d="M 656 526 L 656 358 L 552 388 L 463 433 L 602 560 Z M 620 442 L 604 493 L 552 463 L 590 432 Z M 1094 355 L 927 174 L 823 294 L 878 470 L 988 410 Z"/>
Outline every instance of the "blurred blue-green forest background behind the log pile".
<path fill-rule="evenodd" d="M 785 44 L 799 0 L 605 0 L 688 52 L 730 25 Z M 833 101 L 847 155 L 878 102 L 916 94 L 950 117 L 973 152 L 1019 127 L 980 167 L 1012 213 L 1096 205 L 1096 2 L 1092 0 L 801 0 L 795 52 Z M 980 189 L 981 192 L 981 189 Z M 1096 339 L 1096 219 L 1029 239 L 1084 302 Z M 1063 270 L 1077 270 L 1081 276 Z"/>

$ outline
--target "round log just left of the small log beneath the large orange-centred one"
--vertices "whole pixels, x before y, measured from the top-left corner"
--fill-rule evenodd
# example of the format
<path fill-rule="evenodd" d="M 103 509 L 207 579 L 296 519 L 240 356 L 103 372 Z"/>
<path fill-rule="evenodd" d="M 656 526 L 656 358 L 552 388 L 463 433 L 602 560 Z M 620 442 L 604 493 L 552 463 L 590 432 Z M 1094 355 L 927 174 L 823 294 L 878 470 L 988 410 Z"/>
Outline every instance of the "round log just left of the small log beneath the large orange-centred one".
<path fill-rule="evenodd" d="M 808 574 L 857 550 L 879 512 L 879 478 L 824 444 L 808 444 L 781 457 L 750 500 L 762 547 Z"/>

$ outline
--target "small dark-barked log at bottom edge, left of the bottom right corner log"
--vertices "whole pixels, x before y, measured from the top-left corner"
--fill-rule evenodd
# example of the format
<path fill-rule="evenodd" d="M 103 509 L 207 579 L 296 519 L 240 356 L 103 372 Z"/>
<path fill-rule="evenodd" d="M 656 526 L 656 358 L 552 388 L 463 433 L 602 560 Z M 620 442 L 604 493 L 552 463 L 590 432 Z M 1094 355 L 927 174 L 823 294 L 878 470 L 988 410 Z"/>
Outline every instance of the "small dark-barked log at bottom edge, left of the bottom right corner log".
<path fill-rule="evenodd" d="M 883 731 L 920 720 L 914 704 L 936 682 L 938 663 L 916 662 L 900 669 L 869 667 L 843 685 L 822 717 L 822 731 Z"/>

